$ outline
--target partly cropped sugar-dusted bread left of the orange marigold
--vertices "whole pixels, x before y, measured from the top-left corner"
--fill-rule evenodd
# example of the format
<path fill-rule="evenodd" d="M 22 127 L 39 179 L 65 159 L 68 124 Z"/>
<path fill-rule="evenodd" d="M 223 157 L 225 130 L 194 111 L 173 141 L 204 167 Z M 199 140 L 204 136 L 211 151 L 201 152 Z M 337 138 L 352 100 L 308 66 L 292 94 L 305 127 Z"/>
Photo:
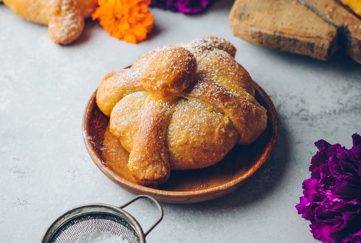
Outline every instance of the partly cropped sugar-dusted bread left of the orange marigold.
<path fill-rule="evenodd" d="M 3 1 L 18 16 L 48 25 L 53 41 L 64 45 L 78 39 L 84 28 L 84 18 L 90 17 L 97 6 L 97 0 Z"/>

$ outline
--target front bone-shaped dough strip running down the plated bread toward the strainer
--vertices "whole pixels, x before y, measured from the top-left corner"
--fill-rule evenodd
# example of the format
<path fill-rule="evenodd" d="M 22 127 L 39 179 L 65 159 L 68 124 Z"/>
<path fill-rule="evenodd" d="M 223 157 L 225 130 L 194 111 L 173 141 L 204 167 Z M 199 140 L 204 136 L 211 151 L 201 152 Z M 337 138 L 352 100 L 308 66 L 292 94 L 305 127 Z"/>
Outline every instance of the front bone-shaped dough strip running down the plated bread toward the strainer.
<path fill-rule="evenodd" d="M 178 99 L 173 97 L 165 101 L 149 94 L 145 101 L 144 115 L 128 161 L 128 169 L 141 185 L 157 187 L 170 176 L 165 135 Z"/>

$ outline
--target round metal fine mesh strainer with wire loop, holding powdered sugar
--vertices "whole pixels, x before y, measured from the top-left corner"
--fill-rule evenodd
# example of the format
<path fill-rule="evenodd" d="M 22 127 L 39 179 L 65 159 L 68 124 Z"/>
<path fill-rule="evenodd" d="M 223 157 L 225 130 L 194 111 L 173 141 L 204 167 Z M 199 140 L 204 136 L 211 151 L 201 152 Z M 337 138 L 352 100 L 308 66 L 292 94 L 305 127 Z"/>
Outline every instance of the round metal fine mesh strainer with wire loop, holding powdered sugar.
<path fill-rule="evenodd" d="M 160 217 L 148 231 L 143 233 L 138 221 L 123 208 L 134 201 L 145 198 L 153 201 Z M 145 236 L 162 220 L 163 209 L 152 197 L 139 195 L 128 203 L 116 207 L 109 204 L 85 204 L 70 209 L 48 227 L 40 243 L 74 243 L 81 234 L 94 230 L 110 231 L 113 234 L 123 235 L 130 243 L 145 243 Z"/>

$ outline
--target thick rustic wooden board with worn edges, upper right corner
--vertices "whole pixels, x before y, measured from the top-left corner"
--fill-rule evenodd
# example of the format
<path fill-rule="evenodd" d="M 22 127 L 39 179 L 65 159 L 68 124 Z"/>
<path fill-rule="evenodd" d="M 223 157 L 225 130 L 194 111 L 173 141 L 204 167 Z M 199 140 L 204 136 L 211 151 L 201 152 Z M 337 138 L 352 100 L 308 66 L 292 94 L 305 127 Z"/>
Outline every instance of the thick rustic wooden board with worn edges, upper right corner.
<path fill-rule="evenodd" d="M 320 60 L 344 48 L 361 63 L 361 20 L 334 0 L 236 0 L 229 21 L 258 46 Z"/>

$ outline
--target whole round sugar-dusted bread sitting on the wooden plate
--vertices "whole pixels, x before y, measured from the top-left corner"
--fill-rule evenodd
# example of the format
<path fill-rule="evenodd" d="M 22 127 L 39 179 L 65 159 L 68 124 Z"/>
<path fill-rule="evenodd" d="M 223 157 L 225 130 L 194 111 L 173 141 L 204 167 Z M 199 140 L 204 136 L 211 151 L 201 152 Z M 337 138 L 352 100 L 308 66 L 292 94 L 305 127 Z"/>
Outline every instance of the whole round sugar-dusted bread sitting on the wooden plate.
<path fill-rule="evenodd" d="M 104 77 L 96 102 L 130 153 L 137 183 L 156 187 L 171 170 L 214 165 L 264 131 L 266 109 L 235 52 L 225 39 L 199 38 L 156 48 Z"/>

